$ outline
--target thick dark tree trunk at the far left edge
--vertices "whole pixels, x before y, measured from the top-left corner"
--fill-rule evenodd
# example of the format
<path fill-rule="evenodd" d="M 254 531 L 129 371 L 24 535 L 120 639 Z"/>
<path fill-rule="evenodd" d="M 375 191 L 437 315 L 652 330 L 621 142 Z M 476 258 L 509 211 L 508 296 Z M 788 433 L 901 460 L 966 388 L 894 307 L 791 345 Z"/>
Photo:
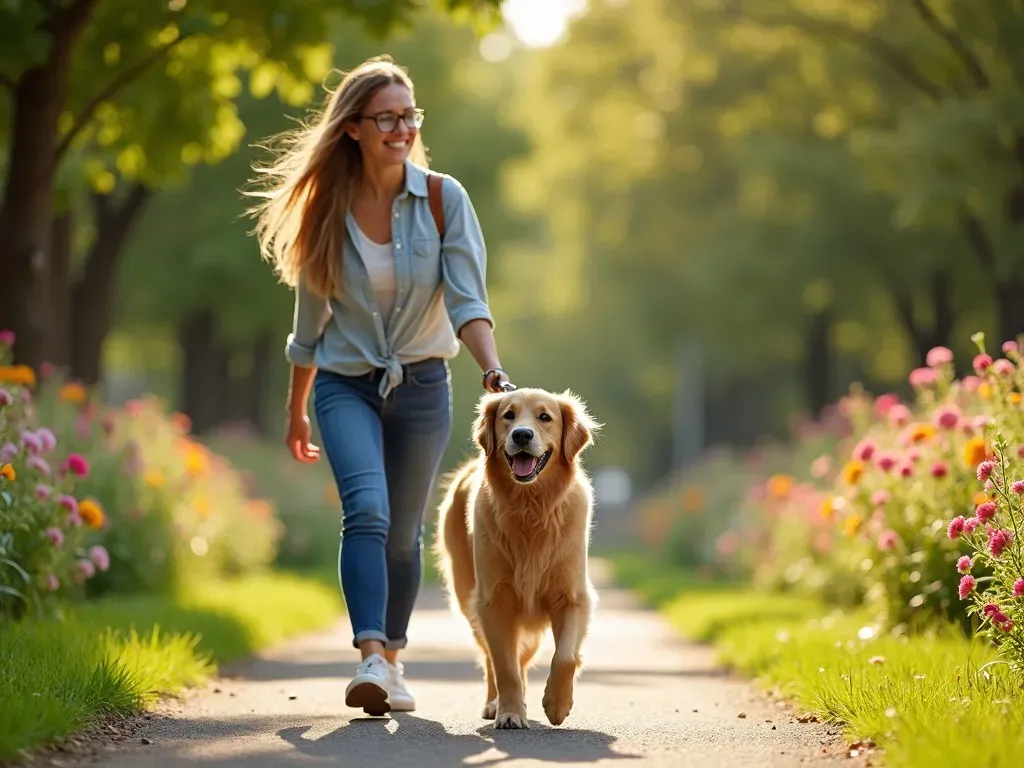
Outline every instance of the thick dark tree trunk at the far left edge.
<path fill-rule="evenodd" d="M 56 174 L 57 123 L 63 109 L 75 38 L 96 0 L 52 11 L 48 56 L 27 70 L 10 96 L 10 143 L 0 204 L 0 329 L 17 335 L 14 356 L 35 368 L 47 353 L 46 302 Z"/>

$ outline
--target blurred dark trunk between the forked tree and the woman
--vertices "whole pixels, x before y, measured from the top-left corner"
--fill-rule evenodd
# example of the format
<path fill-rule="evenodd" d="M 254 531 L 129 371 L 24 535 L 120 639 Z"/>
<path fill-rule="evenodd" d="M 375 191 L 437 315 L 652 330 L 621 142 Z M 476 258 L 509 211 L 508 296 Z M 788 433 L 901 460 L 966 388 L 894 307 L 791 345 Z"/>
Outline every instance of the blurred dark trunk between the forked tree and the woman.
<path fill-rule="evenodd" d="M 181 347 L 181 411 L 191 420 L 194 434 L 209 432 L 224 418 L 230 392 L 230 358 L 217 340 L 217 317 L 201 309 L 178 330 Z"/>

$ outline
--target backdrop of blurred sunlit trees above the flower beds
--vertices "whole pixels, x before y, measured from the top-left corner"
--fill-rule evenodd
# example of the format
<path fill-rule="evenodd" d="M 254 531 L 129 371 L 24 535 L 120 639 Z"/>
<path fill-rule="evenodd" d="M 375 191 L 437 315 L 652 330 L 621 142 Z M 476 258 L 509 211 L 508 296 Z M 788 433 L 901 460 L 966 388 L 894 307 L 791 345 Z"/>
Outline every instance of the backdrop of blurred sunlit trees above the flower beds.
<path fill-rule="evenodd" d="M 605 425 L 599 540 L 659 541 L 645 500 L 738 494 L 851 387 L 1024 331 L 1013 0 L 0 2 L 0 328 L 185 414 L 275 502 L 286 561 L 332 562 L 340 513 L 282 444 L 292 294 L 239 189 L 381 53 L 476 207 L 505 369 Z M 445 468 L 480 393 L 467 351 L 453 372 Z"/>

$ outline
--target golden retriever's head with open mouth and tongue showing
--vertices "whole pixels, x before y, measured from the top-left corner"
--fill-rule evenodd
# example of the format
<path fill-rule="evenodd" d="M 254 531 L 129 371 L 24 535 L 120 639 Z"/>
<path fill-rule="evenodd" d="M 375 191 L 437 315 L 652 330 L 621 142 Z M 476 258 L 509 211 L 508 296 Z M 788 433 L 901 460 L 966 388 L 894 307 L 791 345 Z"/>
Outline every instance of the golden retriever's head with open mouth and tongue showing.
<path fill-rule="evenodd" d="M 600 428 L 569 391 L 544 389 L 485 394 L 474 436 L 488 463 L 503 464 L 517 483 L 531 483 L 553 464 L 570 469 Z"/>

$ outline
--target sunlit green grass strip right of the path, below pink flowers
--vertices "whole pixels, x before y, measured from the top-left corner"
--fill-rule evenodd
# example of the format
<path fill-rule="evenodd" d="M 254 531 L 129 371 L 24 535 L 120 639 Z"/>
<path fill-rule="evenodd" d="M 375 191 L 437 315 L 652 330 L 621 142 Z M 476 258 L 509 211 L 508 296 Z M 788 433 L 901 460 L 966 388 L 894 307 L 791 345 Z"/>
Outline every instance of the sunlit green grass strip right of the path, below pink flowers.
<path fill-rule="evenodd" d="M 611 562 L 623 583 L 683 634 L 713 643 L 723 664 L 843 724 L 851 740 L 872 739 L 886 765 L 1021 764 L 1021 681 L 981 641 L 952 630 L 879 634 L 863 611 L 708 585 L 671 566 L 649 577 L 649 556 L 616 555 Z"/>

